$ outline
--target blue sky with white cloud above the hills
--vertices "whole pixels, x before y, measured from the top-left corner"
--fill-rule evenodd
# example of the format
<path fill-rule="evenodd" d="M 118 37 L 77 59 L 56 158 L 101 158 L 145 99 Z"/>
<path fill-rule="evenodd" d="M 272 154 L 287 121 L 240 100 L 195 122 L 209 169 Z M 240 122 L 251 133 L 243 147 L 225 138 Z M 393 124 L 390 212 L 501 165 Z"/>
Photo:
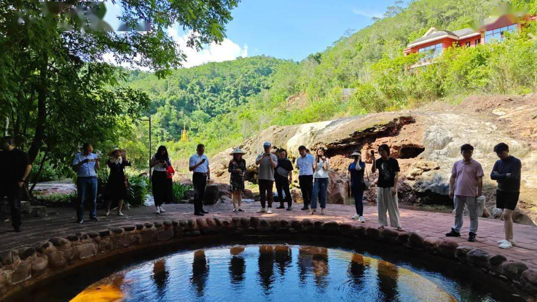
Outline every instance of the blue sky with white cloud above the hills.
<path fill-rule="evenodd" d="M 221 45 L 206 45 L 204 50 L 186 48 L 181 27 L 169 33 L 185 51 L 185 67 L 209 61 L 233 60 L 238 56 L 269 55 L 300 61 L 311 53 L 323 51 L 347 30 L 358 31 L 382 16 L 395 0 L 242 0 L 226 26 L 227 38 Z M 405 1 L 407 2 L 407 1 Z M 118 6 L 107 3 L 106 19 L 114 27 Z"/>

